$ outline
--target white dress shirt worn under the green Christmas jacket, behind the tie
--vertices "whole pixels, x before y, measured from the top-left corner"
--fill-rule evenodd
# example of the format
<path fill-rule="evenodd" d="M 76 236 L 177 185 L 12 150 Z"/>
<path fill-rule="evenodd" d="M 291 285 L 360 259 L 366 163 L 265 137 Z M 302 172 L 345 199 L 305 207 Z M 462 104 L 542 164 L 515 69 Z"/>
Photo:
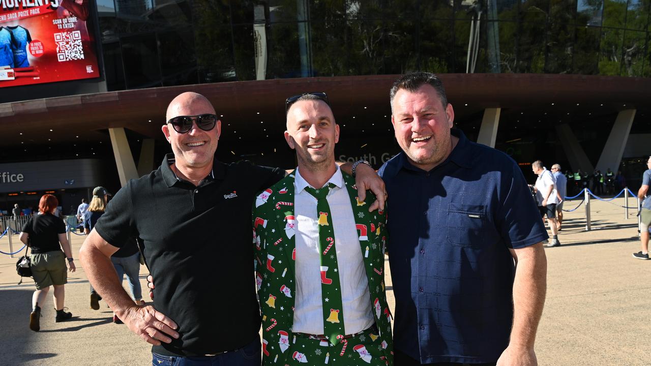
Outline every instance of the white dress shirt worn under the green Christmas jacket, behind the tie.
<path fill-rule="evenodd" d="M 339 275 L 343 305 L 344 332 L 353 334 L 366 330 L 375 322 L 371 313 L 368 279 L 355 228 L 353 208 L 339 167 L 328 180 L 333 188 L 326 199 L 330 206 L 335 231 L 337 266 L 327 277 Z M 296 217 L 296 303 L 292 331 L 309 334 L 324 333 L 324 313 L 321 296 L 321 253 L 319 247 L 316 198 L 305 191 L 309 184 L 296 169 L 294 187 L 294 216 Z M 317 187 L 312 187 L 317 188 Z M 318 187 L 321 188 L 321 187 Z"/>

